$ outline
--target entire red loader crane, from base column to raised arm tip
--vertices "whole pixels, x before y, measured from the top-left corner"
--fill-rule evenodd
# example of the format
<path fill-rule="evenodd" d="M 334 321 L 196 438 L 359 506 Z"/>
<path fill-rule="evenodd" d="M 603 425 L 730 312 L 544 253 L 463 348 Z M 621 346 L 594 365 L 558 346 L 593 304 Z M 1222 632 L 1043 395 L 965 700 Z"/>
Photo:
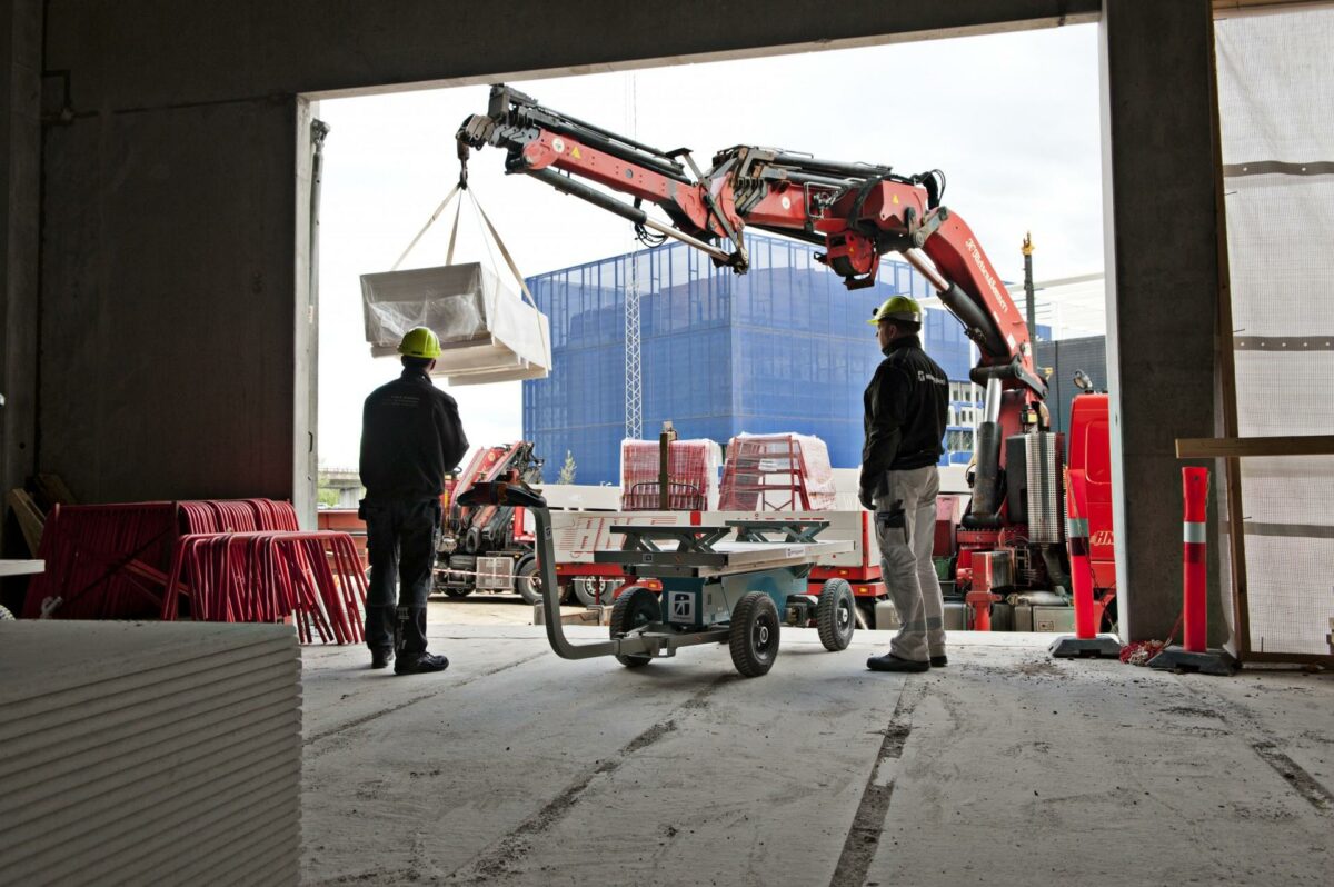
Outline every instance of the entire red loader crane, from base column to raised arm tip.
<path fill-rule="evenodd" d="M 500 148 L 506 172 L 622 216 L 648 247 L 672 237 L 736 273 L 750 267 L 747 229 L 818 247 L 815 259 L 850 291 L 875 284 L 883 255 L 902 255 L 963 324 L 980 355 L 970 377 L 986 392 L 984 420 L 975 437 L 971 502 L 955 538 L 955 579 L 967 591 L 974 624 L 990 624 L 990 607 L 1002 599 L 998 592 L 1061 594 L 1070 587 L 1065 448 L 1050 432 L 1046 379 L 1034 365 L 1023 312 L 972 229 L 942 203 L 943 172 L 903 175 L 888 165 L 760 145 L 719 151 L 702 171 L 686 148 L 654 148 L 504 84 L 492 87 L 487 112 L 468 116 L 456 140 L 463 176 L 472 149 Z M 650 216 L 644 203 L 668 221 Z M 1105 435 L 1106 396 L 1098 403 L 1077 412 L 1085 432 L 1098 428 L 1091 433 Z M 1078 458 L 1107 458 L 1106 447 L 1089 433 L 1081 441 Z M 1110 507 L 1106 526 L 1091 530 L 1103 532 L 1110 552 Z M 1103 607 L 1111 594 L 1102 588 Z"/>

